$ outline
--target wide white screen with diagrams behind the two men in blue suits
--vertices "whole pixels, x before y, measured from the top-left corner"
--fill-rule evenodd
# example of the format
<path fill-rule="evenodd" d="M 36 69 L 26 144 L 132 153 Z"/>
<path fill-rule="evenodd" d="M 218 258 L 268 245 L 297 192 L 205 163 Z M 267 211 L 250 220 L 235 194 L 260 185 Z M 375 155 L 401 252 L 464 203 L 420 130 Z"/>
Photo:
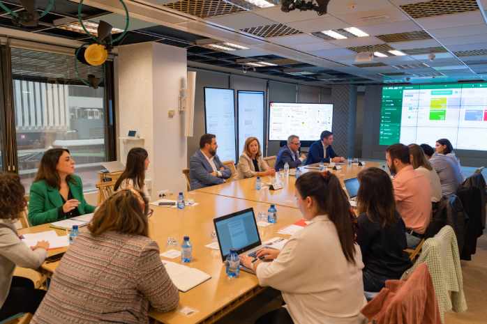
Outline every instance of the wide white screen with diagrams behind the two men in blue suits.
<path fill-rule="evenodd" d="M 317 141 L 324 130 L 331 132 L 333 104 L 271 102 L 269 140 L 285 141 L 294 134 L 301 141 Z"/>

